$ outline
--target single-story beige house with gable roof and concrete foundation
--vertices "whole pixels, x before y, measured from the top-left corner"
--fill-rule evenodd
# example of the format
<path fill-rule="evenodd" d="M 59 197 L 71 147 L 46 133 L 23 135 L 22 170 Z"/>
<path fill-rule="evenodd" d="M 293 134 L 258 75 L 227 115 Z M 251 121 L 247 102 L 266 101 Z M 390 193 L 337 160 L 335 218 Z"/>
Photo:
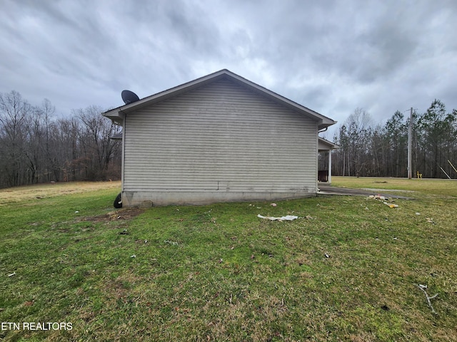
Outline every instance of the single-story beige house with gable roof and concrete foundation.
<path fill-rule="evenodd" d="M 127 207 L 316 196 L 336 123 L 225 69 L 103 115 L 123 126 Z"/>

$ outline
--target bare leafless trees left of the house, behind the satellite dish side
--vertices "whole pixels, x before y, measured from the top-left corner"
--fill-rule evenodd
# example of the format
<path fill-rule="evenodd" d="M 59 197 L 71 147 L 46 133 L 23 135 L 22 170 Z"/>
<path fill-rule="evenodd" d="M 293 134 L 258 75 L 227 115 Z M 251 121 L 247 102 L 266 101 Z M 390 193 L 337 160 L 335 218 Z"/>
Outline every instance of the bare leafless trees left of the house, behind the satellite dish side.
<path fill-rule="evenodd" d="M 31 105 L 16 91 L 0 93 L 0 187 L 121 177 L 121 128 L 97 106 L 56 118 L 50 100 Z"/>

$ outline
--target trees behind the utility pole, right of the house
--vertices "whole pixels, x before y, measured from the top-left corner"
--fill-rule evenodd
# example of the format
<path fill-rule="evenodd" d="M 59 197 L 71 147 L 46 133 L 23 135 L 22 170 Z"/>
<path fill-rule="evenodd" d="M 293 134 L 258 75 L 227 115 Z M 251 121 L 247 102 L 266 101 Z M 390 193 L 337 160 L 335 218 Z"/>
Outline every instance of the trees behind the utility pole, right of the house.
<path fill-rule="evenodd" d="M 410 111 L 406 113 L 397 110 L 381 125 L 366 110 L 354 110 L 333 137 L 340 148 L 333 151 L 332 174 L 407 177 Z M 413 110 L 412 118 L 413 177 L 457 178 L 457 110 L 448 112 L 444 103 L 433 100 L 425 113 Z"/>

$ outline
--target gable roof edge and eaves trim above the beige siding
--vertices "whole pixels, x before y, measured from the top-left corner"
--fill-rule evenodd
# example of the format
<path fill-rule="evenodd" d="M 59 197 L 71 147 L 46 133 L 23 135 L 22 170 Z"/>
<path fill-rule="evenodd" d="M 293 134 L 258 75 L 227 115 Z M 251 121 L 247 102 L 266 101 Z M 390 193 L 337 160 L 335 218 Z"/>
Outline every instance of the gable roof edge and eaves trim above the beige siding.
<path fill-rule="evenodd" d="M 321 115 L 315 112 L 314 110 L 306 108 L 303 105 L 300 105 L 296 102 L 293 102 L 292 100 L 289 100 L 288 98 L 285 98 L 281 95 L 278 95 L 277 93 L 274 93 L 271 90 L 268 90 L 267 88 L 263 88 L 262 86 L 259 86 L 256 83 L 248 81 L 246 80 L 246 78 L 238 76 L 236 75 L 236 73 L 232 73 L 227 69 L 216 71 L 216 73 L 211 73 L 207 76 L 197 78 L 194 81 L 183 83 L 180 86 L 176 86 L 174 88 L 161 91 L 160 93 L 156 93 L 146 98 L 142 98 L 141 100 L 136 101 L 134 103 L 121 105 L 118 108 L 114 108 L 112 110 L 106 111 L 105 113 L 102 113 L 102 115 L 106 116 L 106 118 L 110 118 L 113 121 L 121 123 L 124 119 L 124 116 L 126 114 L 133 112 L 134 110 L 145 108 L 149 105 L 154 105 L 155 103 L 159 103 L 163 100 L 173 98 L 176 95 L 187 93 L 190 90 L 199 88 L 201 86 L 206 86 L 209 83 L 213 83 L 215 81 L 223 79 L 233 81 L 234 83 L 237 83 L 240 86 L 248 88 L 249 90 L 253 91 L 253 93 L 268 98 L 269 100 L 273 100 L 273 102 L 283 105 L 295 112 L 301 113 L 302 115 L 305 115 L 306 117 L 317 121 L 319 130 L 327 128 L 328 126 L 334 125 L 336 123 L 336 121 L 332 120 L 331 118 L 327 118 L 326 116 Z"/>

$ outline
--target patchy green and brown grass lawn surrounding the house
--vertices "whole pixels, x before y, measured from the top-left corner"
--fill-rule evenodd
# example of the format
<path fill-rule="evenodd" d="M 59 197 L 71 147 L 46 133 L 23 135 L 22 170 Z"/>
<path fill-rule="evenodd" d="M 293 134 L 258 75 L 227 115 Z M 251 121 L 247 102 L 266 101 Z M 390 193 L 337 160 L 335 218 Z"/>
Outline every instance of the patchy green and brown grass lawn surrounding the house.
<path fill-rule="evenodd" d="M 0 339 L 457 341 L 457 182 L 333 185 L 412 199 L 114 210 L 119 182 L 0 190 Z"/>

